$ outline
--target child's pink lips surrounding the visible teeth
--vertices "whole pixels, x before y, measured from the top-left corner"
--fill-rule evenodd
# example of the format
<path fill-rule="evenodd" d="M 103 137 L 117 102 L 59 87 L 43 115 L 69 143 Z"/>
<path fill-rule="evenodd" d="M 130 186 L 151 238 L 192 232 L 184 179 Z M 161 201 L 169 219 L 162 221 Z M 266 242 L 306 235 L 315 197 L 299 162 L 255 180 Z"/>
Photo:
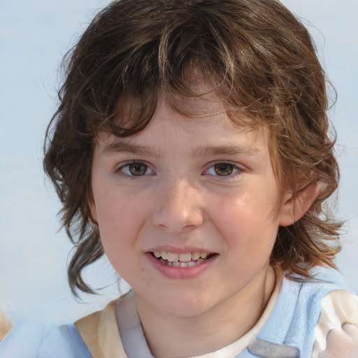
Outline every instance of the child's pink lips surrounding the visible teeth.
<path fill-rule="evenodd" d="M 156 250 L 159 251 L 159 248 L 156 248 Z M 185 252 L 195 252 L 195 250 L 186 251 L 184 250 L 174 250 L 166 248 L 160 248 L 162 251 L 168 250 L 169 252 L 178 252 L 178 253 L 185 253 Z M 171 251 L 172 250 L 172 251 Z M 201 251 L 201 252 L 207 252 L 207 251 Z M 197 275 L 200 275 L 203 273 L 203 271 L 206 271 L 210 266 L 212 266 L 217 259 L 217 254 L 213 255 L 209 259 L 206 259 L 204 262 L 201 262 L 201 264 L 197 264 L 194 266 L 187 266 L 187 267 L 176 267 L 176 266 L 169 266 L 161 262 L 159 259 L 156 259 L 152 252 L 145 252 L 145 257 L 148 259 L 150 264 L 154 266 L 160 273 L 165 275 L 167 278 L 174 278 L 174 279 L 187 279 L 187 278 L 194 278 Z"/>

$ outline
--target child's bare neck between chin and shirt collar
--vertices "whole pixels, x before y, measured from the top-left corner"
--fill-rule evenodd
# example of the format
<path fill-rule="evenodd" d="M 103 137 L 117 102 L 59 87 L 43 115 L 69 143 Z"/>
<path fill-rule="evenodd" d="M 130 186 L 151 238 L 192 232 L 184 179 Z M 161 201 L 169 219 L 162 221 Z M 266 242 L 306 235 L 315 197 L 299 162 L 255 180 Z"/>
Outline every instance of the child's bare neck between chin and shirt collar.
<path fill-rule="evenodd" d="M 157 358 L 192 357 L 215 352 L 237 341 L 259 320 L 274 285 L 273 269 L 266 266 L 241 292 L 204 313 L 189 317 L 162 313 L 135 294 L 152 354 Z"/>

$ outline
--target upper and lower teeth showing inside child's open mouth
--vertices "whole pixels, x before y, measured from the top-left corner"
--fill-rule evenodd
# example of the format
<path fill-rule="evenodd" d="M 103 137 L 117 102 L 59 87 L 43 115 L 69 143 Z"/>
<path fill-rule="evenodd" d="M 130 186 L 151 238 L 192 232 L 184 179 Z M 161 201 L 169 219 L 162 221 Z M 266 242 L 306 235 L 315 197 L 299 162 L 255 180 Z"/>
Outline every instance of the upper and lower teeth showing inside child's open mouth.
<path fill-rule="evenodd" d="M 174 267 L 192 267 L 199 265 L 214 255 L 212 252 L 178 252 L 154 251 L 152 257 L 168 266 Z"/>

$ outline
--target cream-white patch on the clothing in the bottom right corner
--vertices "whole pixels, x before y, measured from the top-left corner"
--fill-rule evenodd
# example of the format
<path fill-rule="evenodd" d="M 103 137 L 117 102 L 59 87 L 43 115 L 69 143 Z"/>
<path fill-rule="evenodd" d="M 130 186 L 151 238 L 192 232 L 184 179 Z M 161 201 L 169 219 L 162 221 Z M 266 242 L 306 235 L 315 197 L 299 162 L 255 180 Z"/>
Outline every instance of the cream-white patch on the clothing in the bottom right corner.
<path fill-rule="evenodd" d="M 358 297 L 343 289 L 321 302 L 312 358 L 355 358 L 358 355 Z"/>

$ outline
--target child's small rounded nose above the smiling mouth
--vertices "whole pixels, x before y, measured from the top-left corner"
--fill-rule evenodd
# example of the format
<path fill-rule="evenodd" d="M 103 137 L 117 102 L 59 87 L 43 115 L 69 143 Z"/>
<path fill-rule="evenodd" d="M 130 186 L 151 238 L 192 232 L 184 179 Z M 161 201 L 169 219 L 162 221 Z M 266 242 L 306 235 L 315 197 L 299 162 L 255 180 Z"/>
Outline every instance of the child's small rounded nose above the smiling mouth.
<path fill-rule="evenodd" d="M 187 180 L 171 180 L 158 190 L 152 213 L 155 226 L 170 233 L 181 233 L 200 227 L 203 208 L 199 189 Z"/>

